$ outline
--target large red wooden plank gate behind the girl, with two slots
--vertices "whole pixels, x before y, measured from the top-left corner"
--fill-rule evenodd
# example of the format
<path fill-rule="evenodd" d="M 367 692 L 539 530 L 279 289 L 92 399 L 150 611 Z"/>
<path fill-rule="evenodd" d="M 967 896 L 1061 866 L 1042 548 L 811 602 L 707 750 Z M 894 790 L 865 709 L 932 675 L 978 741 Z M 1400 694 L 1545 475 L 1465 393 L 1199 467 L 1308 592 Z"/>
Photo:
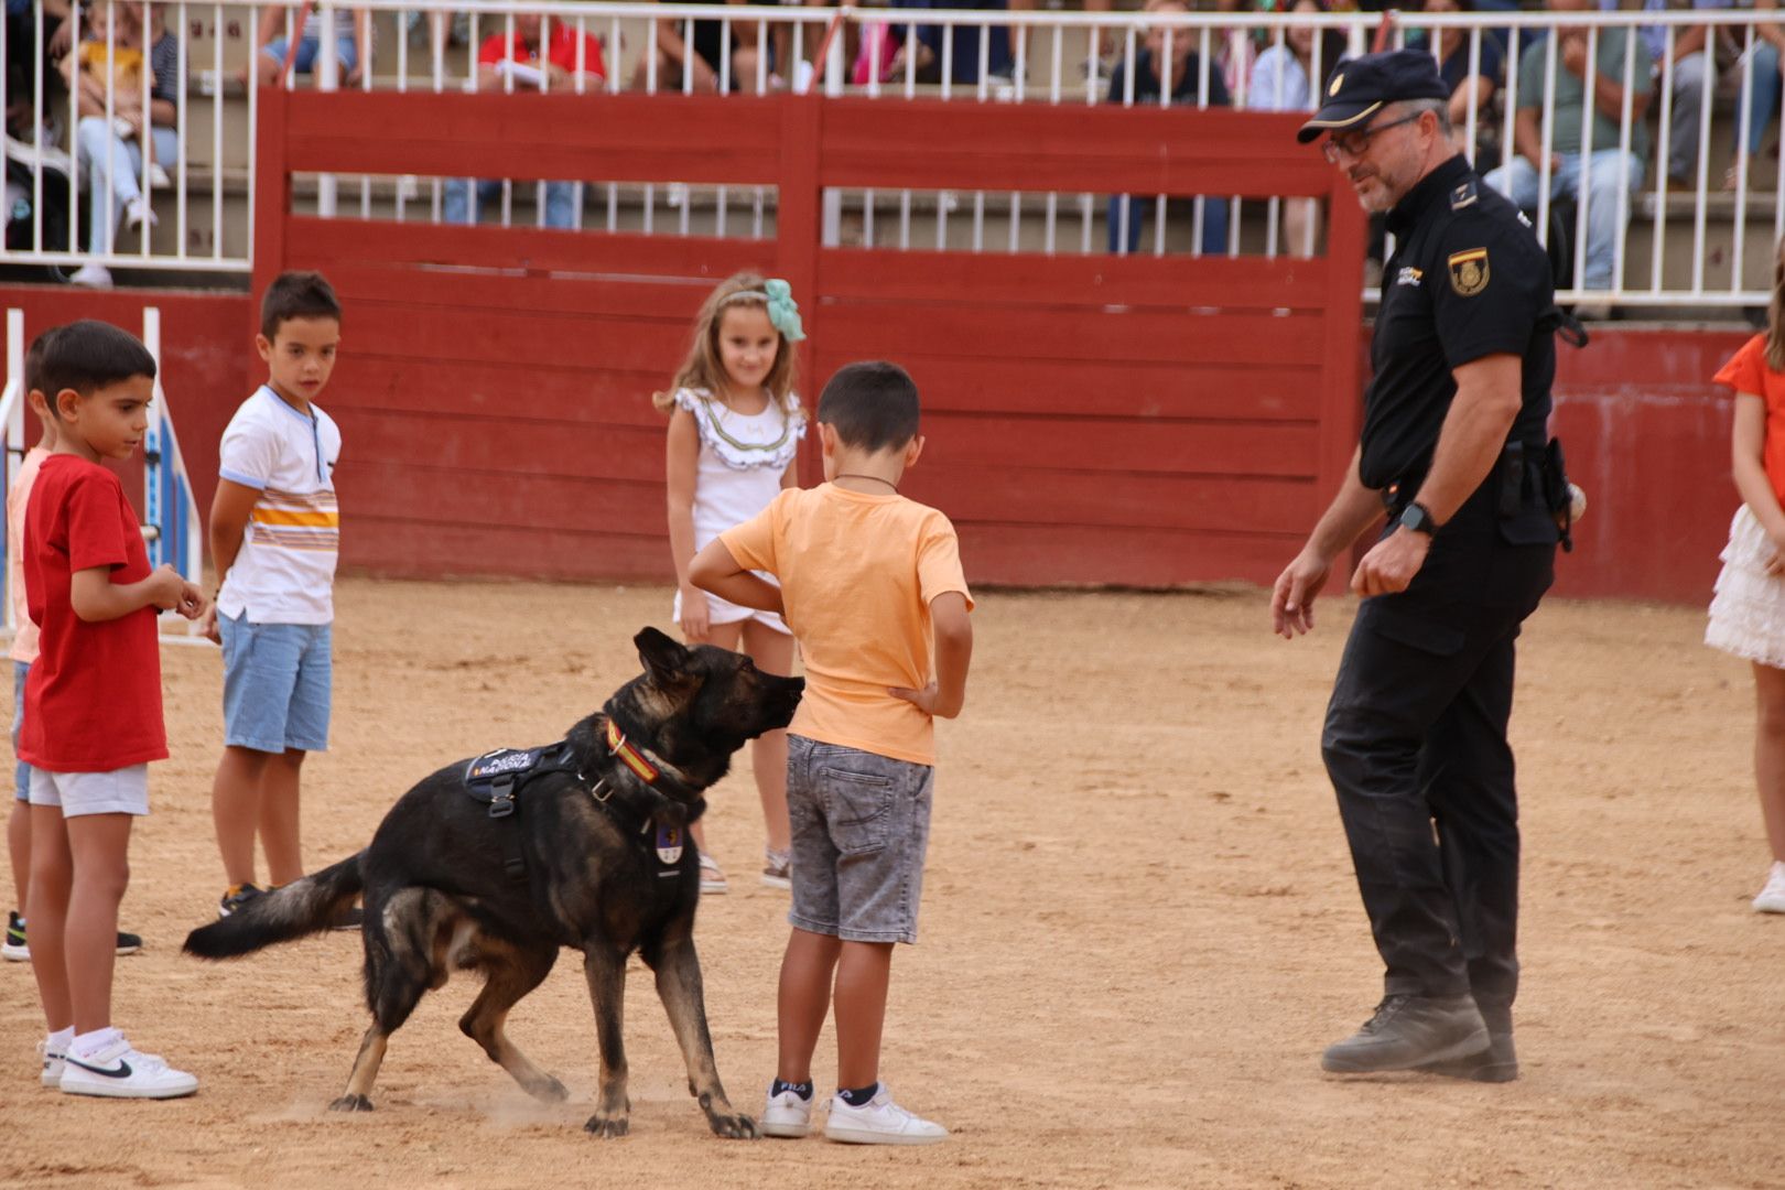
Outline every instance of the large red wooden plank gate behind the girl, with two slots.
<path fill-rule="evenodd" d="M 255 291 L 346 307 L 325 405 L 345 560 L 666 578 L 648 394 L 709 287 L 787 277 L 803 391 L 892 359 L 930 442 L 909 494 L 982 583 L 1269 580 L 1349 459 L 1364 219 L 1296 116 L 868 98 L 264 91 Z M 773 241 L 312 218 L 293 173 L 775 186 Z M 1328 255 L 823 248 L 825 187 L 1324 196 Z M 805 460 L 805 480 L 816 466 Z"/>

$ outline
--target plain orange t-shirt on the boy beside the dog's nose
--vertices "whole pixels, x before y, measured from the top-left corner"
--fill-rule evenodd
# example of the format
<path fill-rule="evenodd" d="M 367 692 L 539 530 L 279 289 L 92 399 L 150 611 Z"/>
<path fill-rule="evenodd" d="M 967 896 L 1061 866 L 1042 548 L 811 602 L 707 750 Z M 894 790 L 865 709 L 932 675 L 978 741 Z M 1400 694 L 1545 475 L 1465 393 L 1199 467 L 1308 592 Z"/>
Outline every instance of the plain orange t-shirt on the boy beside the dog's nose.
<path fill-rule="evenodd" d="M 782 491 L 719 541 L 741 567 L 780 580 L 805 658 L 805 698 L 787 730 L 935 764 L 930 715 L 887 687 L 930 683 L 935 596 L 959 591 L 973 608 L 948 517 L 903 496 L 823 483 Z"/>

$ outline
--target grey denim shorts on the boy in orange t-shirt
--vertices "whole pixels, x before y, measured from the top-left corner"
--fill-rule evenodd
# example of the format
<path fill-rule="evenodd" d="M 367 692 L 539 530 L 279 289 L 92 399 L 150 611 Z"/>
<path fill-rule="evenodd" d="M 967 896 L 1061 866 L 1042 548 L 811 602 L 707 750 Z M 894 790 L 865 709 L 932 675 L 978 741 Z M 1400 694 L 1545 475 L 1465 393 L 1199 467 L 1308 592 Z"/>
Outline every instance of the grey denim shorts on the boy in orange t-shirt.
<path fill-rule="evenodd" d="M 846 942 L 916 942 L 935 769 L 787 737 L 793 912 Z"/>

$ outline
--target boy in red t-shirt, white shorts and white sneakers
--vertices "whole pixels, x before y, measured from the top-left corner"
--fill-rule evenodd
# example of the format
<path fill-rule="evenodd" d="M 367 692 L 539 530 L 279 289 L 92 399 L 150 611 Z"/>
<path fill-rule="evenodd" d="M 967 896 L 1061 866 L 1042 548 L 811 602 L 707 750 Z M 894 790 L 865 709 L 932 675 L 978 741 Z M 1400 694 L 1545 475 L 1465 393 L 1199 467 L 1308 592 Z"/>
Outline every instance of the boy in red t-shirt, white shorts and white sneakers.
<path fill-rule="evenodd" d="M 168 755 L 155 608 L 196 619 L 198 587 L 148 567 L 123 483 L 148 428 L 155 360 L 96 321 L 43 351 L 55 450 L 25 512 L 25 594 L 39 628 L 20 758 L 30 765 L 30 965 L 50 1035 L 43 1083 L 77 1095 L 170 1099 L 198 1079 L 111 1026 L 118 903 L 130 821 L 148 814 L 148 762 Z"/>

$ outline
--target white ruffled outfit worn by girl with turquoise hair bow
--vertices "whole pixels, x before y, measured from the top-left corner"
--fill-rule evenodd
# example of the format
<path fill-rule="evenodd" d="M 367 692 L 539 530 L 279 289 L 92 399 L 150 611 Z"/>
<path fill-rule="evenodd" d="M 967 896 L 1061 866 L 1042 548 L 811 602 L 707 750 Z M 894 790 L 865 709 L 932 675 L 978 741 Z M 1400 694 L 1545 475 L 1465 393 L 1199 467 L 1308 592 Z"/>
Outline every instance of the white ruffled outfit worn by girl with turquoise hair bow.
<path fill-rule="evenodd" d="M 705 389 L 677 389 L 675 403 L 691 412 L 700 428 L 700 459 L 694 464 L 694 550 L 700 551 L 725 530 L 769 507 L 780 492 L 782 475 L 800 453 L 805 417 L 800 416 L 800 398 L 793 394 L 787 412 L 769 401 L 760 414 L 748 416 Z M 757 576 L 775 582 L 773 574 L 757 571 Z M 682 619 L 680 591 L 673 616 Z M 707 619 L 714 624 L 755 619 L 775 632 L 787 632 L 775 612 L 737 607 L 716 594 L 707 596 Z"/>

